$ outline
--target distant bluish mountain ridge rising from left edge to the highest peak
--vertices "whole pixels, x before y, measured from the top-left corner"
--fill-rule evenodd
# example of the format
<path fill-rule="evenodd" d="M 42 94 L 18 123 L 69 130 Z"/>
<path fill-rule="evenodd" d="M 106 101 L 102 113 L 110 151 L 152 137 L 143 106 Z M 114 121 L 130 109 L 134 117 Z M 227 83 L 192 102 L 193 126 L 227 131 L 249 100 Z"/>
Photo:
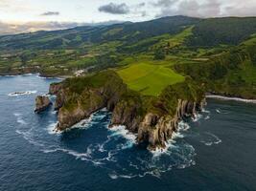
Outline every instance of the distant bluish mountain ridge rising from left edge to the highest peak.
<path fill-rule="evenodd" d="M 128 44 L 164 33 L 175 34 L 195 25 L 198 18 L 185 16 L 164 17 L 152 21 L 98 27 L 77 27 L 55 32 L 33 32 L 0 36 L 1 50 L 46 50 L 77 48 L 90 43 L 122 41 Z"/>

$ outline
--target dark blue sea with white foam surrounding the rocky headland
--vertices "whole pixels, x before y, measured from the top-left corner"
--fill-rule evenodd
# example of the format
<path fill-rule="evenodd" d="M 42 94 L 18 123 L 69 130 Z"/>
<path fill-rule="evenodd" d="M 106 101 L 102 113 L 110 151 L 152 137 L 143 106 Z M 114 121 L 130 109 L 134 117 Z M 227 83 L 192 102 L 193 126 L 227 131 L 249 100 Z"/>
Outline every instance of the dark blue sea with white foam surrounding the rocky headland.
<path fill-rule="evenodd" d="M 255 104 L 208 99 L 164 153 L 151 153 L 124 127 L 109 130 L 105 110 L 55 134 L 56 112 L 36 115 L 34 104 L 56 81 L 0 77 L 1 191 L 256 190 Z"/>

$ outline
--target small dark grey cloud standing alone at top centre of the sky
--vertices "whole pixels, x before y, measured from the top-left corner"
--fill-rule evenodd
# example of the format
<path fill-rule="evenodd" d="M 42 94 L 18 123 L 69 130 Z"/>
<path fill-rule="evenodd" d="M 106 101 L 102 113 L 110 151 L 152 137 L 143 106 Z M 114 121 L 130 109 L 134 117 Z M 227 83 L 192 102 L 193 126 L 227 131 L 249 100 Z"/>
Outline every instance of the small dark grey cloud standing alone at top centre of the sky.
<path fill-rule="evenodd" d="M 109 3 L 107 5 L 101 6 L 99 8 L 99 11 L 110 13 L 110 14 L 128 14 L 129 13 L 129 7 L 127 4 L 114 4 Z"/>

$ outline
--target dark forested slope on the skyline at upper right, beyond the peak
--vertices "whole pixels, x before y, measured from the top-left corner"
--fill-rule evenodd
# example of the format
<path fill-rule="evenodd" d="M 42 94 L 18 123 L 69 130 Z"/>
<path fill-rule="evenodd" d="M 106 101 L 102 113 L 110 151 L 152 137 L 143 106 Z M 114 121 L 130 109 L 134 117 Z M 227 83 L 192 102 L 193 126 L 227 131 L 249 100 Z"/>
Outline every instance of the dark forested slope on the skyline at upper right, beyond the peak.
<path fill-rule="evenodd" d="M 193 29 L 188 45 L 214 47 L 238 45 L 256 32 L 256 17 L 226 17 L 201 20 Z"/>

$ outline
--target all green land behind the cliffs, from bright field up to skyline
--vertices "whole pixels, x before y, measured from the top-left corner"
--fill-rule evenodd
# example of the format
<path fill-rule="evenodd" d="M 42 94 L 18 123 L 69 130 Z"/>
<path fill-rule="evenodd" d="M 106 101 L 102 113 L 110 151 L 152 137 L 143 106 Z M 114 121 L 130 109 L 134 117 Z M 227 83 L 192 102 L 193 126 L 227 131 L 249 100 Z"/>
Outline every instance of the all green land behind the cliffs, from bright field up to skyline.
<path fill-rule="evenodd" d="M 76 75 L 113 69 L 158 96 L 186 75 L 212 92 L 256 97 L 256 17 L 147 22 L 0 36 L 0 74 Z M 239 87 L 241 94 L 236 94 Z"/>

